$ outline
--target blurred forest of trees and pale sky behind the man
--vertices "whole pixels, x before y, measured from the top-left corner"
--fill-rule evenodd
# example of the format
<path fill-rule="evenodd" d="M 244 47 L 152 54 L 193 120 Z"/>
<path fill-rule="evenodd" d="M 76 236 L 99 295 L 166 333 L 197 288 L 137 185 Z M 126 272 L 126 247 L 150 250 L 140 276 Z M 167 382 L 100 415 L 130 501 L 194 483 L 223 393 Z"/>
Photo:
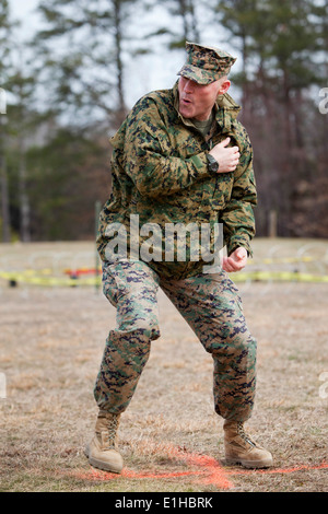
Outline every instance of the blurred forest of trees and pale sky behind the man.
<path fill-rule="evenodd" d="M 162 68 L 171 55 L 183 62 L 186 40 L 209 34 L 238 56 L 257 234 L 328 237 L 327 0 L 43 0 L 37 12 L 26 39 L 0 0 L 2 242 L 94 237 L 108 138 L 132 107 L 130 67 L 156 54 Z"/>

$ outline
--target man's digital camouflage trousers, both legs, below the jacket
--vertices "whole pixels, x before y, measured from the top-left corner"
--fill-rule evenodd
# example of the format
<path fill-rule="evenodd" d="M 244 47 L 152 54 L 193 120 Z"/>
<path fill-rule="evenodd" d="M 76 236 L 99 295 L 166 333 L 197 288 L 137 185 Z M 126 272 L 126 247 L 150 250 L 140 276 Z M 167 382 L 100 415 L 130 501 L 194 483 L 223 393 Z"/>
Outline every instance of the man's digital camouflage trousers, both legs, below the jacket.
<path fill-rule="evenodd" d="M 94 396 L 101 409 L 128 407 L 160 337 L 157 290 L 165 292 L 213 358 L 214 409 L 224 419 L 246 421 L 254 406 L 256 340 L 249 334 L 238 291 L 225 271 L 163 280 L 144 262 L 122 260 L 103 268 L 103 288 L 116 307 Z"/>

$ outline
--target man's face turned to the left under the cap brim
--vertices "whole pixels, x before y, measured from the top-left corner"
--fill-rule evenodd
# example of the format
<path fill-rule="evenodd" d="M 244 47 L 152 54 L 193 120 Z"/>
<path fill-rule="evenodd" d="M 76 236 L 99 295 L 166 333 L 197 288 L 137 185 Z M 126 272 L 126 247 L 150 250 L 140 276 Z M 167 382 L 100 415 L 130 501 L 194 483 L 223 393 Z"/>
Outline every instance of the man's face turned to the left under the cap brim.
<path fill-rule="evenodd" d="M 226 93 L 229 87 L 230 81 L 226 77 L 207 85 L 180 77 L 178 82 L 180 115 L 200 121 L 209 119 L 218 95 Z"/>

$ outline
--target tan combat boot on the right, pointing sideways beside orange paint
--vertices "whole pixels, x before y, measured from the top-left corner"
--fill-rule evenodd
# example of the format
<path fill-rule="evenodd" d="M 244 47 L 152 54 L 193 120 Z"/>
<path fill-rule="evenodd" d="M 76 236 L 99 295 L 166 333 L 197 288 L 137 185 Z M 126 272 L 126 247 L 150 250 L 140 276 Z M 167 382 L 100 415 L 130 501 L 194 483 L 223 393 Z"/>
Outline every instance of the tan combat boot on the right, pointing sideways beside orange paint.
<path fill-rule="evenodd" d="M 224 451 L 226 464 L 241 464 L 245 468 L 268 468 L 273 465 L 272 455 L 244 432 L 243 423 L 224 421 Z"/>

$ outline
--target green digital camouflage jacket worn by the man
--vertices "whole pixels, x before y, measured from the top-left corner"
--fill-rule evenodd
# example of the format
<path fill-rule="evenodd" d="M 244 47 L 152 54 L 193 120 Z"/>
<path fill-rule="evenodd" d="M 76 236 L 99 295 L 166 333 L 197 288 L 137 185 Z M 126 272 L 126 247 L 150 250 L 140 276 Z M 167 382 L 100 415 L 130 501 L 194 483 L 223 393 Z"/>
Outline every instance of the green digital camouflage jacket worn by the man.
<path fill-rule="evenodd" d="M 108 260 L 106 247 L 114 241 L 108 226 L 122 224 L 129 238 L 131 214 L 139 215 L 140 226 L 155 223 L 163 230 L 166 223 L 222 223 L 227 254 L 243 246 L 251 255 L 256 186 L 251 144 L 236 119 L 241 108 L 230 95 L 223 95 L 215 106 L 213 137 L 206 140 L 181 118 L 177 102 L 177 83 L 172 90 L 143 96 L 110 140 L 113 187 L 101 212 L 97 236 L 104 261 Z M 234 172 L 213 174 L 207 154 L 226 137 L 231 145 L 239 147 L 239 164 Z M 176 279 L 198 273 L 202 265 L 201 259 L 188 258 L 149 260 L 160 276 Z"/>

